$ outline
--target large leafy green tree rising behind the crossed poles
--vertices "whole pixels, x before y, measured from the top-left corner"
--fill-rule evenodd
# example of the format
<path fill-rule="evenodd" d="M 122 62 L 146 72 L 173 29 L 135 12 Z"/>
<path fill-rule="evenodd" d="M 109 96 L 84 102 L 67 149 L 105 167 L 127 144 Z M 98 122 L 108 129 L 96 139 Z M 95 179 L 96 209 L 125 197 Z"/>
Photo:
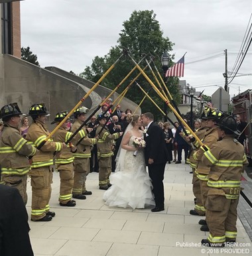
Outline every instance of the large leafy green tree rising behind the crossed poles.
<path fill-rule="evenodd" d="M 160 63 L 160 57 L 164 51 L 170 52 L 172 46 L 174 45 L 166 37 L 162 36 L 163 32 L 160 29 L 160 25 L 156 20 L 156 15 L 153 11 L 133 11 L 131 17 L 128 21 L 123 22 L 123 30 L 119 33 L 119 39 L 117 40 L 118 45 L 113 46 L 107 55 L 104 57 L 95 56 L 92 65 L 87 66 L 84 72 L 80 76 L 97 82 L 99 78 L 109 69 L 109 67 L 119 58 L 122 49 L 126 48 L 133 59 L 138 63 L 144 56 L 144 54 L 151 54 L 155 57 L 155 64 L 160 70 L 162 75 L 162 67 Z M 174 56 L 170 56 L 174 58 Z M 149 59 L 149 57 L 147 58 Z M 172 61 L 170 61 L 172 65 Z M 140 64 L 141 68 L 146 66 L 146 62 Z M 101 82 L 101 84 L 107 88 L 114 89 L 125 76 L 132 70 L 134 64 L 131 59 L 125 56 L 122 60 L 117 62 L 115 68 L 111 70 L 108 76 Z M 149 68 L 145 70 L 149 78 L 154 82 L 156 86 L 157 82 L 153 78 Z M 127 85 L 139 74 L 138 70 L 135 70 L 130 78 L 128 78 L 124 84 L 117 90 L 121 93 Z M 151 85 L 147 82 L 143 76 L 139 76 L 137 82 L 140 86 L 147 92 Z M 172 97 L 176 102 L 180 101 L 180 96 L 178 96 L 178 78 L 169 78 L 168 81 L 169 90 L 172 90 Z M 165 91 L 166 92 L 166 91 Z M 163 101 L 157 95 L 154 90 L 150 90 L 149 96 L 151 96 L 159 107 L 163 106 Z M 128 97 L 135 103 L 139 104 L 141 99 L 143 99 L 144 94 L 141 90 L 133 84 L 131 89 L 127 92 L 125 97 Z M 141 105 L 142 111 L 152 111 L 157 119 L 162 118 L 162 114 L 158 109 L 153 106 L 151 101 L 146 99 Z M 161 107 L 162 108 L 162 107 Z M 133 109 L 134 110 L 134 109 Z"/>

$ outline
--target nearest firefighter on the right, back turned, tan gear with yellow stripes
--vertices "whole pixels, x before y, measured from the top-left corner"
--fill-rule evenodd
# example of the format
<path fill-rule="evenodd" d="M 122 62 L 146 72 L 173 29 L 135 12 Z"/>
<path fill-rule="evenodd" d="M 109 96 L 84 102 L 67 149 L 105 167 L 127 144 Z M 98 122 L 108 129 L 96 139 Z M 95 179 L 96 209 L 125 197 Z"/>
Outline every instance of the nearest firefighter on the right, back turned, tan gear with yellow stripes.
<path fill-rule="evenodd" d="M 202 162 L 211 170 L 208 174 L 208 197 L 206 200 L 206 222 L 210 229 L 208 239 L 202 239 L 207 246 L 222 247 L 232 244 L 237 237 L 237 205 L 241 188 L 243 166 L 248 164 L 243 145 L 235 139 L 239 136 L 233 117 L 220 120 L 218 135 L 220 141 L 206 151 Z"/>

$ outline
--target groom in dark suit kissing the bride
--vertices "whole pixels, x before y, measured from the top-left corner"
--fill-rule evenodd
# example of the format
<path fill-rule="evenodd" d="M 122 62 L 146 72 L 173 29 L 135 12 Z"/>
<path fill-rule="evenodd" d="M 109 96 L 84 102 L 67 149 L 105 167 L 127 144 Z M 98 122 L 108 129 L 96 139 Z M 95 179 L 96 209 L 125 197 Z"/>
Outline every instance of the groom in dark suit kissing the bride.
<path fill-rule="evenodd" d="M 145 126 L 145 163 L 149 169 L 149 176 L 153 183 L 153 193 L 155 196 L 156 207 L 151 212 L 164 210 L 164 168 L 168 160 L 168 151 L 164 142 L 162 129 L 153 122 L 153 114 L 144 113 L 141 121 Z"/>

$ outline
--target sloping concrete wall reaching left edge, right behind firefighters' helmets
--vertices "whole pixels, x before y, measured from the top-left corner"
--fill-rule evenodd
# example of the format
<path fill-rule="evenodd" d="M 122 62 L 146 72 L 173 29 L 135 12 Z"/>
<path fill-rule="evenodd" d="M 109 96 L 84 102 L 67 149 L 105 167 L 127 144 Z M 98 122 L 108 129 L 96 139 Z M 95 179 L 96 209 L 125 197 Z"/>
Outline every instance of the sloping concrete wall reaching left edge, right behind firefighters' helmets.
<path fill-rule="evenodd" d="M 67 76 L 70 73 L 62 70 L 62 74 Z M 45 103 L 51 114 L 47 121 L 50 127 L 50 122 L 58 111 L 73 109 L 94 85 L 88 80 L 79 79 L 78 76 L 68 77 L 78 82 L 14 56 L 0 54 L 0 107 L 7 103 L 17 102 L 21 110 L 28 113 L 32 104 Z M 109 92 L 111 90 L 97 86 L 95 92 L 92 92 L 82 105 L 88 107 L 89 113 L 92 113 L 101 103 L 101 97 L 108 95 Z M 131 107 L 133 110 L 137 107 L 135 103 L 126 98 L 123 99 L 121 105 L 123 108 Z"/>

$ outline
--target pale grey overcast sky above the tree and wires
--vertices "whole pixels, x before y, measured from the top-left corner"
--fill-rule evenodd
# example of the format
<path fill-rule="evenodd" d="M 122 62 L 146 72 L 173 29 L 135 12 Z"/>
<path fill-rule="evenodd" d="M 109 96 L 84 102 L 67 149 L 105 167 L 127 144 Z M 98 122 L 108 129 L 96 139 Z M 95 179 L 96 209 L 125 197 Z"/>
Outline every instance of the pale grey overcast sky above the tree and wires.
<path fill-rule="evenodd" d="M 252 1 L 25 0 L 21 1 L 21 45 L 30 46 L 42 67 L 80 74 L 95 56 L 103 57 L 117 44 L 123 21 L 135 10 L 156 13 L 163 36 L 175 43 L 175 61 L 187 52 L 180 79 L 211 96 L 224 86 L 225 49 L 228 71 L 235 64 Z M 252 73 L 252 46 L 248 53 L 240 74 Z M 229 86 L 231 97 L 239 88 L 240 92 L 252 89 L 252 76 L 237 77 Z"/>

